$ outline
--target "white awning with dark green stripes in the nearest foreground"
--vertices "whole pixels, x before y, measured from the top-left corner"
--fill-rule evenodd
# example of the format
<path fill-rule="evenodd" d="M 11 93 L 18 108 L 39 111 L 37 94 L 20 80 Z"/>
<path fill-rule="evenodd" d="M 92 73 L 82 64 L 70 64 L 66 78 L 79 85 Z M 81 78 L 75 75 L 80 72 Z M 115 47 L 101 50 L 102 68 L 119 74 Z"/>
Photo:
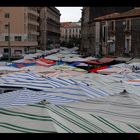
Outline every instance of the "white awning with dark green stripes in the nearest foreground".
<path fill-rule="evenodd" d="M 92 107 L 97 103 L 93 102 Z M 92 104 L 92 102 L 91 102 Z M 80 104 L 82 105 L 82 104 Z M 80 107 L 79 105 L 79 107 Z M 83 104 L 84 105 L 84 104 Z M 81 106 L 84 107 L 84 106 Z M 133 105 L 134 106 L 134 105 Z M 101 112 L 102 109 L 84 111 L 76 107 L 70 108 L 53 104 L 31 104 L 14 108 L 0 108 L 1 133 L 139 133 L 139 112 L 131 109 L 117 113 L 115 111 Z M 122 107 L 122 104 L 121 104 Z M 125 105 L 123 105 L 125 107 Z M 120 109 L 120 108 L 119 108 Z M 128 109 L 128 108 L 127 108 Z M 101 112 L 97 114 L 97 112 Z M 109 112 L 109 113 L 108 113 Z M 108 114 L 108 116 L 105 114 Z M 111 115 L 110 115 L 111 114 Z M 113 114 L 113 115 L 112 115 Z M 110 115 L 110 117 L 109 117 Z M 122 116 L 123 117 L 120 117 Z M 113 116 L 113 117 L 112 117 Z M 121 118 L 121 120 L 118 119 Z"/>

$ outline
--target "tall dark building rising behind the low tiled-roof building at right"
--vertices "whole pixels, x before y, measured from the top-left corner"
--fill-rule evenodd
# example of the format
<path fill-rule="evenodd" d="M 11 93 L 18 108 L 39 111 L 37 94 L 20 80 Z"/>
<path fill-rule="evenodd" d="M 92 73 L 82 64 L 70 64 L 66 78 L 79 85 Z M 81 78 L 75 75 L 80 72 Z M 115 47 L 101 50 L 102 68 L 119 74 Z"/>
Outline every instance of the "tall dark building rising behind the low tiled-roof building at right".
<path fill-rule="evenodd" d="M 94 19 L 114 12 L 124 12 L 132 7 L 83 7 L 81 22 L 81 46 L 79 48 L 83 55 L 98 55 L 100 24 L 95 23 Z M 98 34 L 98 35 L 97 35 Z"/>

